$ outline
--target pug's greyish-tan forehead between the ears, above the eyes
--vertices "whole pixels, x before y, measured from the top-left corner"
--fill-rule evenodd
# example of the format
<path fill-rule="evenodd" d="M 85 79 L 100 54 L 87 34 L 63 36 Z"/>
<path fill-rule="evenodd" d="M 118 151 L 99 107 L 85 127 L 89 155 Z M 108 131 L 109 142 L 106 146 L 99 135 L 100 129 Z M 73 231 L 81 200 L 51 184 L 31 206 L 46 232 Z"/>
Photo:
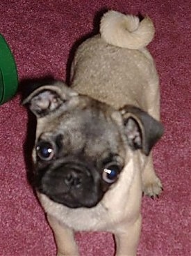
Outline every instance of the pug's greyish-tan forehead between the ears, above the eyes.
<path fill-rule="evenodd" d="M 68 153 L 83 151 L 91 156 L 122 150 L 119 123 L 112 114 L 99 108 L 76 109 L 56 117 L 49 116 L 41 126 L 41 133 L 52 138 L 62 135 L 62 143 Z"/>

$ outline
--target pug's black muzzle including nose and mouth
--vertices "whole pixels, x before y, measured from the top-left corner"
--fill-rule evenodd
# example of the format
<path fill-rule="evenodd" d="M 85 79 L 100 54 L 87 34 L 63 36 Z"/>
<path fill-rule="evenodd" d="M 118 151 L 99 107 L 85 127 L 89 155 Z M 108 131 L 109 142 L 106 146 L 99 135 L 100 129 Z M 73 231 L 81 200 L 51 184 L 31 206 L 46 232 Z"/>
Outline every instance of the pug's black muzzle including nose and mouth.
<path fill-rule="evenodd" d="M 103 197 L 99 175 L 92 175 L 83 165 L 65 163 L 56 168 L 39 170 L 38 174 L 35 182 L 38 192 L 69 208 L 90 208 Z"/>

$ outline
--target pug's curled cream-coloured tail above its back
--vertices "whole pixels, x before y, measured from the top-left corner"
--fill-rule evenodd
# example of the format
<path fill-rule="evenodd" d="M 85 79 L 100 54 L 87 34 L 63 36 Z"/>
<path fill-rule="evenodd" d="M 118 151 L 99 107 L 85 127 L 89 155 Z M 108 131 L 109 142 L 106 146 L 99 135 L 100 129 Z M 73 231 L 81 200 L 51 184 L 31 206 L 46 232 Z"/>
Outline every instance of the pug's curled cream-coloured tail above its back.
<path fill-rule="evenodd" d="M 101 38 L 118 47 L 138 50 L 147 46 L 153 39 L 155 29 L 149 17 L 139 18 L 109 10 L 101 18 Z"/>

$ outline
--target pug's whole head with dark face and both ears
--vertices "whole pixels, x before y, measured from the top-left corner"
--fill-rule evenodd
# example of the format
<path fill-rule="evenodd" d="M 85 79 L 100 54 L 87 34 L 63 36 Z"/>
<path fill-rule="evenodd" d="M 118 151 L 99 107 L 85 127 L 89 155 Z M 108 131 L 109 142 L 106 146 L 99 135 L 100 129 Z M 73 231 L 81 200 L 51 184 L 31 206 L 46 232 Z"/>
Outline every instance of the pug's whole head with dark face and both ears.
<path fill-rule="evenodd" d="M 127 149 L 148 155 L 163 133 L 160 123 L 142 110 L 114 110 L 62 82 L 41 86 L 24 103 L 38 120 L 34 186 L 70 208 L 98 204 L 117 182 Z"/>

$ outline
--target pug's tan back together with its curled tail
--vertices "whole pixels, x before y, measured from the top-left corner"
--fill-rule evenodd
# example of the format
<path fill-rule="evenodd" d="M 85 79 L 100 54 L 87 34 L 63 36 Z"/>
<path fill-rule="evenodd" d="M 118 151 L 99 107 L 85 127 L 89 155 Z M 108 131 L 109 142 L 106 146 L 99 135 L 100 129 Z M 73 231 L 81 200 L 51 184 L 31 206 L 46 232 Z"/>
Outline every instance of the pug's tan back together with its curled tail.
<path fill-rule="evenodd" d="M 140 22 L 138 17 L 108 11 L 101 19 L 100 34 L 78 47 L 72 87 L 116 109 L 131 104 L 149 111 L 148 93 L 153 98 L 158 94 L 158 75 L 145 48 L 153 35 L 148 17 Z"/>

